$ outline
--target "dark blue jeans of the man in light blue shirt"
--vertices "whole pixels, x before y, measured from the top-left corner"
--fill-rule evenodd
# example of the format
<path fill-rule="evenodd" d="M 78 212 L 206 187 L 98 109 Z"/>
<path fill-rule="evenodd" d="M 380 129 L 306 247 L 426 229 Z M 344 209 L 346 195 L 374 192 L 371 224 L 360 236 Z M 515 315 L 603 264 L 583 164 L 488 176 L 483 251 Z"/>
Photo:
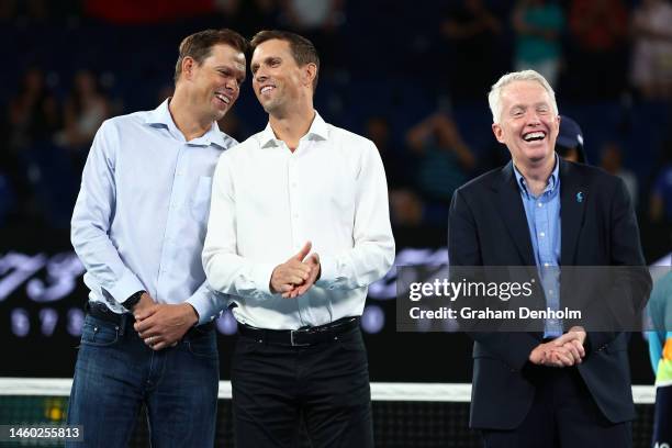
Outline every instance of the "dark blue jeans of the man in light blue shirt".
<path fill-rule="evenodd" d="M 82 425 L 85 441 L 66 446 L 128 446 L 144 403 L 153 447 L 212 448 L 219 366 L 212 327 L 154 351 L 133 318 L 115 325 L 87 315 L 68 408 L 68 425 Z"/>

